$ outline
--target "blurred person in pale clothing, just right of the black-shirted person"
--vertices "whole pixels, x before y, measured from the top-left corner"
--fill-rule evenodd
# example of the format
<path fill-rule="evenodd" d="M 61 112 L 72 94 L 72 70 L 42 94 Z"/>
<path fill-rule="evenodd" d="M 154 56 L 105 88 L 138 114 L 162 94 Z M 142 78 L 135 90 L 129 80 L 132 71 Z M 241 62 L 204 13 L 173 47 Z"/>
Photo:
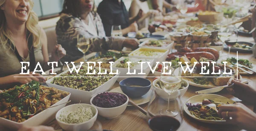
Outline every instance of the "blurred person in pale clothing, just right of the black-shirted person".
<path fill-rule="evenodd" d="M 136 17 L 137 14 L 142 15 L 142 17 L 137 21 L 139 30 L 149 24 L 149 17 L 152 15 L 161 15 L 157 10 L 149 10 L 148 6 L 142 8 L 143 4 L 147 5 L 147 3 L 144 3 L 145 1 L 147 0 L 132 0 L 131 6 L 129 8 L 129 19 Z"/>

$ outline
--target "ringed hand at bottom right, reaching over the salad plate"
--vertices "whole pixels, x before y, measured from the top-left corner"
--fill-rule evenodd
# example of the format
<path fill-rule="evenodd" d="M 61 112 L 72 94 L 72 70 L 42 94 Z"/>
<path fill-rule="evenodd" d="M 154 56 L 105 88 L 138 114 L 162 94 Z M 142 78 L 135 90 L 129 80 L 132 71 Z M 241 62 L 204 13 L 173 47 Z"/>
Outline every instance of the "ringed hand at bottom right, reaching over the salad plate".
<path fill-rule="evenodd" d="M 256 130 L 256 114 L 241 103 L 221 105 L 218 115 L 229 124 L 238 125 L 247 131 Z"/>

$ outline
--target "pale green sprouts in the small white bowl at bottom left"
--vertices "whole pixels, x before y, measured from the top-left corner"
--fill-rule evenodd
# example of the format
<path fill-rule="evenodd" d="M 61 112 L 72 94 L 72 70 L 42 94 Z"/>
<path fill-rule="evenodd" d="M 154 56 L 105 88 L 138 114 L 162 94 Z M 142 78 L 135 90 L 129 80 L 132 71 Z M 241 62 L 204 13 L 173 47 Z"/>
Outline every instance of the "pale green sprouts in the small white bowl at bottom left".
<path fill-rule="evenodd" d="M 78 124 L 90 120 L 94 115 L 90 107 L 77 106 L 75 111 L 62 111 L 58 120 L 68 124 Z"/>

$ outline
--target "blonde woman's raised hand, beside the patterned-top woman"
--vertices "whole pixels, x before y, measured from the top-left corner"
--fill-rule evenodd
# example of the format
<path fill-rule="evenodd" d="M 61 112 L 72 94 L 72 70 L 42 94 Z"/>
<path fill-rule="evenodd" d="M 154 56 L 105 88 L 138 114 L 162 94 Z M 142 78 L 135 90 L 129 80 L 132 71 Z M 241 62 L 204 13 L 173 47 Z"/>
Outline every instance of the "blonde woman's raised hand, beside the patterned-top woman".
<path fill-rule="evenodd" d="M 60 57 L 58 55 L 60 55 Z M 58 61 L 65 55 L 66 55 L 66 50 L 62 48 L 61 45 L 55 45 L 55 47 L 52 50 L 52 61 Z"/>

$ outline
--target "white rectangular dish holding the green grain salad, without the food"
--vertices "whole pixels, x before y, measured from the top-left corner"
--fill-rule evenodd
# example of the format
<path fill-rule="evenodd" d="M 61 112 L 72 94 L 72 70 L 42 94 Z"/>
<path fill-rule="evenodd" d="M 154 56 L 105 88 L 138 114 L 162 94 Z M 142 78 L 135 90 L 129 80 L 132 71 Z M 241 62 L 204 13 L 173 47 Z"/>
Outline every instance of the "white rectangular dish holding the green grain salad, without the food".
<path fill-rule="evenodd" d="M 99 69 L 99 68 L 96 67 L 96 69 Z M 105 70 L 104 68 L 101 68 L 101 69 Z M 110 72 L 110 69 L 107 69 L 107 70 L 108 70 L 108 72 Z M 56 76 L 61 76 L 62 74 L 67 73 L 67 72 L 69 72 L 69 70 L 66 70 Z M 113 70 L 113 72 L 116 72 L 116 70 Z M 120 72 L 118 72 L 117 75 L 115 75 L 113 78 L 108 80 L 106 83 L 102 84 L 101 86 L 97 87 L 96 89 L 94 89 L 90 92 L 52 84 L 51 82 L 53 81 L 53 78 L 50 78 L 49 80 L 47 80 L 46 84 L 48 86 L 55 87 L 57 89 L 61 89 L 61 90 L 70 92 L 71 94 L 73 94 L 70 96 L 70 100 L 72 100 L 75 103 L 80 103 L 80 101 L 81 101 L 81 103 L 90 103 L 91 97 L 93 97 L 94 95 L 96 95 L 100 92 L 108 91 L 113 86 L 113 84 L 115 84 L 119 74 L 120 74 Z"/>

